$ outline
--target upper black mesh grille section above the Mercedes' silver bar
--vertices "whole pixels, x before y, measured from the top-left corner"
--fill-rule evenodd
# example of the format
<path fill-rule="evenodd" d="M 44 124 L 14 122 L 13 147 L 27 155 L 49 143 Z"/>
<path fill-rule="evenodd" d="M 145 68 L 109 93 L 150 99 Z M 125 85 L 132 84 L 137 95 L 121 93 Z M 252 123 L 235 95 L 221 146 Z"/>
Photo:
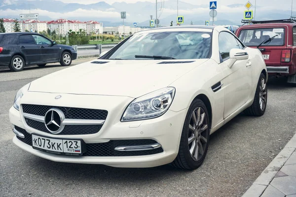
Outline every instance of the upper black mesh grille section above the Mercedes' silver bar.
<path fill-rule="evenodd" d="M 108 111 L 102 109 L 86 109 L 75 107 L 59 107 L 48 105 L 22 104 L 23 112 L 38 116 L 45 116 L 46 112 L 51 108 L 58 108 L 63 111 L 67 119 L 83 119 L 83 120 L 106 120 Z"/>

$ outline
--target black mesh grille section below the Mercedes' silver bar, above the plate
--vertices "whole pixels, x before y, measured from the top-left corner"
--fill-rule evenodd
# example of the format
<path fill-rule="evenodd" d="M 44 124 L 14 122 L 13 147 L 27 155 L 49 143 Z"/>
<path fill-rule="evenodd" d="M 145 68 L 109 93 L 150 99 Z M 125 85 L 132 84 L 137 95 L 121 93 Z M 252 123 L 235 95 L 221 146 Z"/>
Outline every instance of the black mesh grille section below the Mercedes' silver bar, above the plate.
<path fill-rule="evenodd" d="M 51 133 L 45 127 L 44 123 L 25 118 L 26 123 L 29 127 L 36 129 L 38 131 L 43 131 Z M 103 125 L 65 125 L 62 132 L 57 133 L 57 135 L 83 135 L 83 134 L 93 134 L 101 130 Z"/>

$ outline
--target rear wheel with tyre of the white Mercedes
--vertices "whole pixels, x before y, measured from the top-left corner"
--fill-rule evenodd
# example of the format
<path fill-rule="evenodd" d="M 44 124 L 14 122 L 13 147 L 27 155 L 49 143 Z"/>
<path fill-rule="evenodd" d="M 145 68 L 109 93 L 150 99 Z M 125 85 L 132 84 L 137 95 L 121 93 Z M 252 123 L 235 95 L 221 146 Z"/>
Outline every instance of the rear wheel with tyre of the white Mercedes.
<path fill-rule="evenodd" d="M 262 116 L 267 104 L 267 83 L 263 73 L 260 74 L 253 104 L 244 112 L 251 116 Z"/>

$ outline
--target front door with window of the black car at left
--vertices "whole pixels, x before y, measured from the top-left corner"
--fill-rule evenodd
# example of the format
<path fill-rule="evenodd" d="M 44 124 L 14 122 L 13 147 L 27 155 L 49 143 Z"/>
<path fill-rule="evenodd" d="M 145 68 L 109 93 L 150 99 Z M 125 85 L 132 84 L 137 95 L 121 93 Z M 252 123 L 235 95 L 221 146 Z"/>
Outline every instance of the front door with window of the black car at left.
<path fill-rule="evenodd" d="M 59 47 L 57 45 L 53 45 L 52 41 L 43 37 L 41 35 L 34 34 L 33 35 L 37 45 L 41 49 L 41 62 L 49 63 L 49 62 L 59 62 Z"/>

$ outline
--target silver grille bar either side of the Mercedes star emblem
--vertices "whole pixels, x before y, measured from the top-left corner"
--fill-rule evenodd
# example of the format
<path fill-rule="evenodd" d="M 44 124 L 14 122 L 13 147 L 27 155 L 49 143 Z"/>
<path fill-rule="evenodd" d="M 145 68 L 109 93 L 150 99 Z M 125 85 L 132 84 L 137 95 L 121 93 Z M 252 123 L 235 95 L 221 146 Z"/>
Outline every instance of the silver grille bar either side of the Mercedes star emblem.
<path fill-rule="evenodd" d="M 23 113 L 25 118 L 44 123 L 44 116 Z M 103 125 L 105 120 L 65 119 L 62 125 Z"/>

